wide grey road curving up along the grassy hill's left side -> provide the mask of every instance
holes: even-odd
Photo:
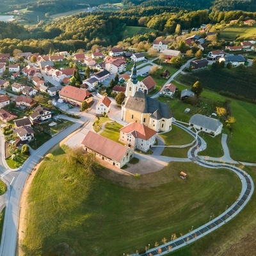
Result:
[[[24,165],[20,169],[20,172],[16,172],[19,175],[12,181],[12,184],[9,185],[8,193],[6,195],[6,212],[2,236],[3,239],[1,241],[0,247],[1,256],[15,255],[20,195],[22,193],[22,189],[24,188],[24,184],[29,173],[31,172],[35,164],[40,161],[42,156],[44,156],[50,148],[54,147],[54,145],[59,143],[61,140],[67,138],[69,134],[76,131],[76,129],[83,125],[83,122],[81,120],[73,120],[73,122],[75,122],[75,124],[54,136],[51,140],[47,141],[47,143],[42,145],[37,150],[33,150],[28,161],[26,161],[26,163],[24,163]],[[13,172],[11,174],[13,175]]]

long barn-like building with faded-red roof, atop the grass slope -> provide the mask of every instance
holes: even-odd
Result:
[[[134,156],[134,151],[131,148],[109,140],[92,131],[86,134],[82,145],[86,152],[95,154],[102,161],[118,168],[122,168]]]

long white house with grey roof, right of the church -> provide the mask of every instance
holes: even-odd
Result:
[[[200,114],[191,116],[189,125],[214,137],[221,133],[223,127],[219,120]]]

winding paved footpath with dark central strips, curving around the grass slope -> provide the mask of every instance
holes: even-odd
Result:
[[[182,248],[183,246],[186,246],[187,244],[194,243],[196,240],[213,232],[217,228],[220,228],[225,223],[232,220],[234,216],[239,214],[243,207],[249,202],[254,191],[253,180],[248,173],[230,164],[212,163],[204,161],[203,159],[197,156],[197,152],[205,149],[205,141],[202,138],[200,138],[200,136],[198,136],[197,133],[189,130],[184,125],[178,124],[177,122],[174,125],[177,125],[181,129],[184,129],[185,131],[189,132],[189,134],[191,134],[196,139],[196,145],[190,148],[188,152],[188,157],[191,161],[208,168],[227,168],[231,170],[232,172],[236,173],[239,179],[241,179],[242,189],[239,198],[237,198],[236,202],[234,202],[234,204],[227,208],[225,212],[220,214],[220,216],[217,216],[216,218],[209,221],[205,225],[202,225],[201,227],[192,230],[191,232],[182,237],[179,237],[166,244],[148,250],[146,253],[142,254],[142,256],[166,255],[167,253],[170,253],[173,250],[177,250],[179,248]]]

